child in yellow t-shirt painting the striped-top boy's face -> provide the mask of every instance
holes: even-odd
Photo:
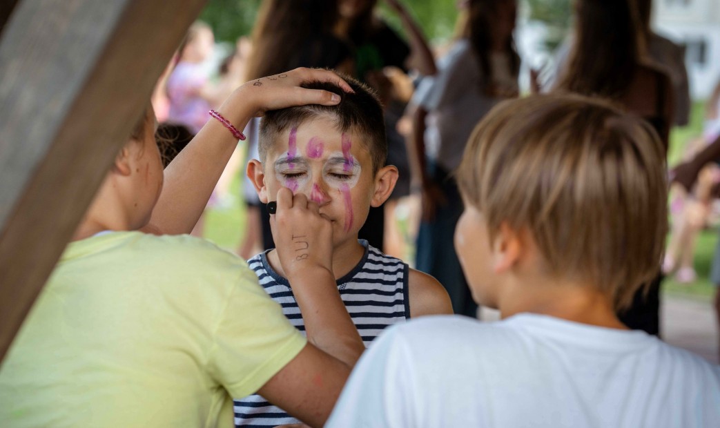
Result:
[[[305,79],[349,90],[329,71],[283,76],[241,86],[220,112],[242,128],[267,108],[338,102]],[[211,120],[163,174],[154,121],[148,107],[6,355],[3,426],[231,426],[229,395],[258,390],[322,425],[364,350],[330,274],[330,223],[304,195],[278,192],[276,254],[307,344],[238,257],[138,231],[189,232],[237,145]]]

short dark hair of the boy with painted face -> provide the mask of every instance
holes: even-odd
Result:
[[[302,84],[307,89],[323,89],[341,97],[336,105],[309,104],[271,110],[265,113],[260,125],[258,151],[264,163],[269,148],[276,142],[279,134],[297,128],[308,120],[317,117],[330,117],[336,128],[343,133],[354,132],[362,136],[365,148],[372,158],[372,172],[384,166],[387,160],[387,139],[382,115],[382,105],[375,92],[365,84],[348,76],[341,76],[355,91],[346,93],[336,84],[326,81],[310,81]]]

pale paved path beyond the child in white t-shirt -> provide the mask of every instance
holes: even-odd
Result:
[[[498,311],[488,308],[480,311],[484,321],[498,319]],[[710,302],[663,295],[661,317],[665,342],[695,352],[715,364],[720,363],[718,327]]]

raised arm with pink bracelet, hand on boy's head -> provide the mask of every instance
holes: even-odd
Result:
[[[346,91],[352,90],[335,73],[325,70],[297,68],[279,76],[285,77],[272,76],[243,84],[217,110],[241,130],[251,117],[260,116],[266,110],[302,104],[332,105],[339,101],[333,100],[330,92],[300,88],[302,81],[333,81]],[[165,169],[163,190],[143,231],[190,233],[237,143],[220,122],[208,120]]]

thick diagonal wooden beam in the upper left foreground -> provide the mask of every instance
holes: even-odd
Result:
[[[204,0],[21,0],[0,39],[0,361]]]

